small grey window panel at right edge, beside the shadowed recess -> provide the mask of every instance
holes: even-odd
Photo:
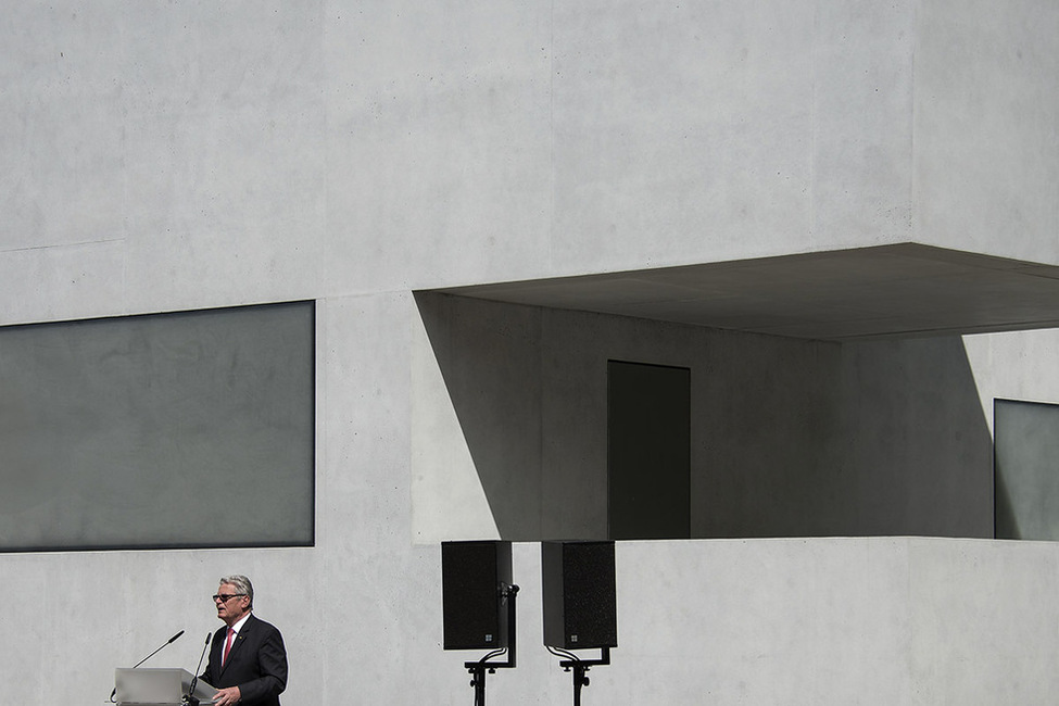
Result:
[[[1059,540],[1059,405],[995,400],[996,538]]]

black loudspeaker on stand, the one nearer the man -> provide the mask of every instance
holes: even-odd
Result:
[[[445,650],[507,647],[505,587],[512,583],[512,543],[441,543]]]

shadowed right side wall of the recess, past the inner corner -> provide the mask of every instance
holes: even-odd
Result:
[[[858,535],[993,537],[993,440],[959,337],[847,343],[845,496]]]

